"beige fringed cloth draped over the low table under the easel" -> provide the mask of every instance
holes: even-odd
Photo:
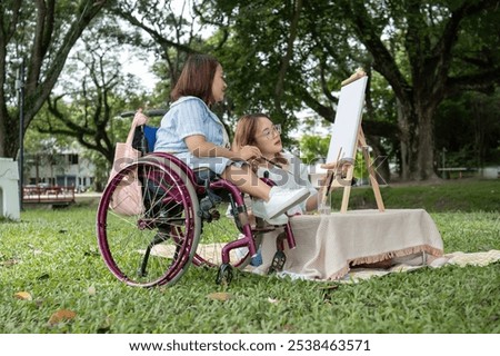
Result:
[[[288,249],[283,270],[309,279],[339,279],[349,265],[427,253],[440,257],[441,235],[423,209],[351,210],[328,216],[303,215],[290,219],[297,247]],[[276,235],[262,240],[262,265],[267,273],[276,251]]]

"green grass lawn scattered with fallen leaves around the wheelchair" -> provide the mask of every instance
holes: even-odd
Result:
[[[353,189],[352,206],[371,207],[370,196]],[[446,253],[500,249],[499,181],[390,187],[382,197],[387,208],[430,211]],[[219,286],[216,270],[192,267],[172,287],[132,288],[104,266],[94,217],[94,206],[76,206],[0,221],[0,333],[500,333],[498,263],[356,285],[236,273]],[[208,297],[217,291],[230,298]],[[74,318],[49,323],[61,309]]]

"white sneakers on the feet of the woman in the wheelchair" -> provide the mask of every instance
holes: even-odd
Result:
[[[253,202],[252,211],[256,216],[263,218],[266,221],[273,225],[287,224],[288,217],[284,212],[291,207],[302,202],[309,197],[309,189],[283,189],[280,187],[272,187],[269,192],[269,201],[257,200]],[[284,221],[284,218],[287,221]],[[279,220],[282,224],[274,224]],[[274,220],[274,221],[272,221]]]

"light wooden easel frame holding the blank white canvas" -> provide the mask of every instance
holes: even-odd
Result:
[[[362,77],[364,77],[366,73],[361,69],[358,69],[358,71],[352,75],[349,79],[346,79],[342,81],[342,87],[347,86],[354,80],[358,80]],[[356,131],[354,131],[356,132]],[[370,152],[368,150],[367,140],[364,139],[364,134],[361,128],[361,125],[358,129],[358,137],[354,145],[354,152],[358,150],[358,148],[361,148],[364,162],[368,167],[368,174],[370,177],[371,188],[373,190],[373,195],[377,201],[377,207],[379,211],[384,211],[386,208],[383,206],[382,195],[380,194],[380,187],[379,182],[377,181],[376,171],[372,166],[372,161],[370,158]],[[336,162],[327,162],[323,165],[323,168],[328,169],[327,178],[326,178],[326,188],[322,189],[322,196],[321,201],[324,205],[327,202],[328,195],[332,192],[337,188],[343,188],[343,196],[342,196],[342,205],[340,208],[340,212],[347,212],[348,205],[349,205],[349,197],[351,194],[351,184],[352,184],[352,177],[354,172],[354,162],[353,161],[342,161],[340,158],[341,150],[339,151],[338,158]],[[344,168],[347,169],[344,170]]]

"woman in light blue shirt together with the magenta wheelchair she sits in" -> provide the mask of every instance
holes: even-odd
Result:
[[[149,139],[153,152],[141,145],[144,156],[122,168],[104,189],[98,241],[108,268],[120,280],[144,287],[170,285],[193,263],[219,267],[217,283],[229,283],[232,267],[244,267],[256,255],[261,234],[282,229],[281,240],[294,247],[286,211],[310,191],[260,179],[247,164],[261,156],[257,147],[228,148],[226,129],[210,110],[224,90],[220,63],[210,56],[191,56],[172,90],[170,110]],[[144,117],[138,113],[134,125],[141,121]],[[139,134],[147,131],[154,132],[141,128]],[[116,202],[121,189],[134,186],[140,209],[133,215],[117,212],[113,197]],[[244,194],[252,197],[253,215],[267,224],[249,224]],[[228,205],[233,220],[219,214]],[[244,256],[234,253],[242,247],[248,249]]]

